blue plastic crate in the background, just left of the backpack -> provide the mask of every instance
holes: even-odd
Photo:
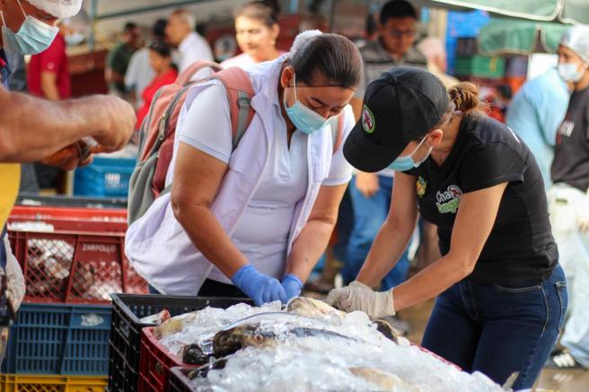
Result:
[[[92,164],[75,170],[74,194],[127,197],[136,160],[95,157]]]

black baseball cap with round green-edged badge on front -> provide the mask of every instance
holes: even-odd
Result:
[[[344,156],[358,170],[385,169],[409,142],[442,120],[449,104],[448,92],[435,75],[410,66],[392,68],[368,85]]]

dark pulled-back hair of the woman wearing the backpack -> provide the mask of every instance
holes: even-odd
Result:
[[[351,40],[338,34],[307,39],[290,58],[296,79],[308,85],[317,79],[331,86],[356,89],[360,83],[362,57]]]

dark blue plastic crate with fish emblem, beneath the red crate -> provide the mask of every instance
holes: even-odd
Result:
[[[10,328],[2,371],[67,376],[106,375],[110,305],[23,303]]]

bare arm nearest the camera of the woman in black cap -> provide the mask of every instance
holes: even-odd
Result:
[[[394,289],[394,309],[409,308],[444,292],[468,276],[495,224],[507,183],[470,192],[461,197],[452,231],[450,251]]]

